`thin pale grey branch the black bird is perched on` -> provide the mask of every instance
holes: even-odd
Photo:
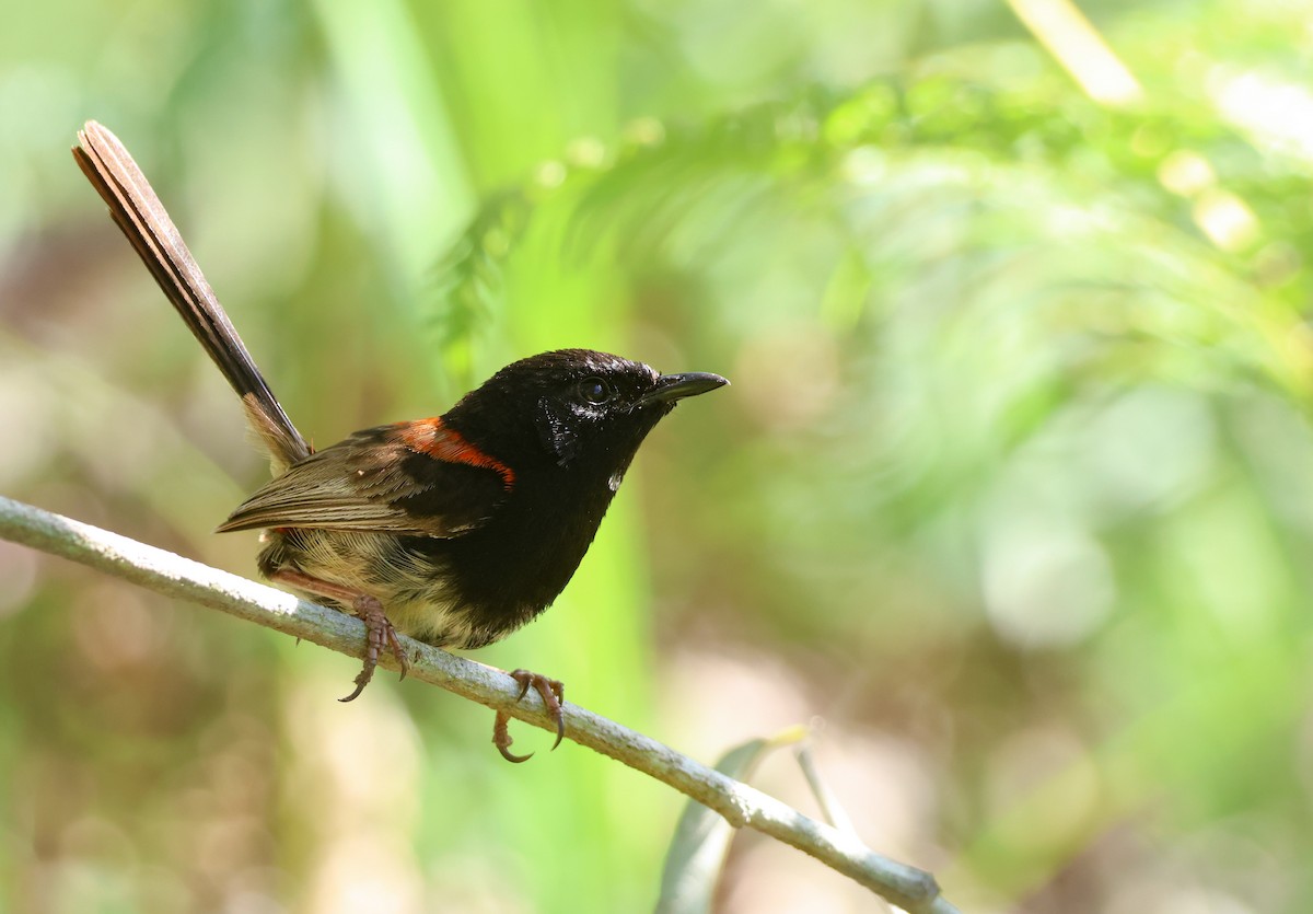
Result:
[[[140,584],[165,596],[257,622],[349,657],[361,657],[364,624],[341,612],[298,600],[290,594],[147,546],[135,540],[0,498],[0,538],[62,555]],[[440,686],[527,724],[553,730],[541,700],[517,700],[519,684],[500,670],[454,657],[403,638],[415,659],[410,678]],[[385,655],[381,666],[397,667]],[[855,837],[807,818],[755,788],[680,755],[668,746],[599,717],[575,704],[565,705],[566,735],[580,746],[628,764],[723,816],[735,827],[750,827],[810,854],[910,914],[953,914],[935,879],[867,848]]]

